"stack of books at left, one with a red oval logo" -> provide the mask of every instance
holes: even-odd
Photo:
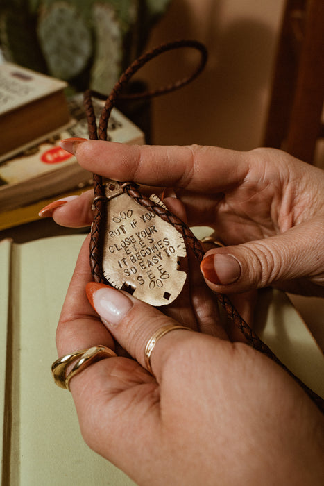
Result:
[[[67,99],[65,87],[29,69],[0,65],[0,230],[33,221],[47,203],[92,184],[92,174],[58,144],[88,137],[83,95]],[[103,104],[94,100],[98,118]],[[144,133],[114,108],[108,140],[143,144]]]

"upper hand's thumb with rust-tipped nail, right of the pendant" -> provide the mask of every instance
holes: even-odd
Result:
[[[312,221],[282,235],[210,250],[201,271],[207,285],[221,293],[245,292],[302,277],[324,285],[323,244],[323,221]]]

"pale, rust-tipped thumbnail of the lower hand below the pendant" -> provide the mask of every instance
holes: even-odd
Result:
[[[133,307],[133,302],[126,295],[103,283],[90,282],[85,291],[94,310],[112,327],[117,326]]]

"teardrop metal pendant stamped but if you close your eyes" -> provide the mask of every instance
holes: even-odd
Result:
[[[105,185],[108,199],[102,268],[105,279],[151,305],[167,305],[186,280],[180,258],[187,254],[182,235],[167,221],[128,196],[119,183]],[[164,206],[157,196],[150,198]]]

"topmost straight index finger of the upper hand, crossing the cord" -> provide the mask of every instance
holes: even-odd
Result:
[[[248,172],[243,152],[219,147],[128,145],[103,140],[60,141],[84,169],[113,179],[214,193],[236,185]],[[217,171],[210,172],[210,161]]]

